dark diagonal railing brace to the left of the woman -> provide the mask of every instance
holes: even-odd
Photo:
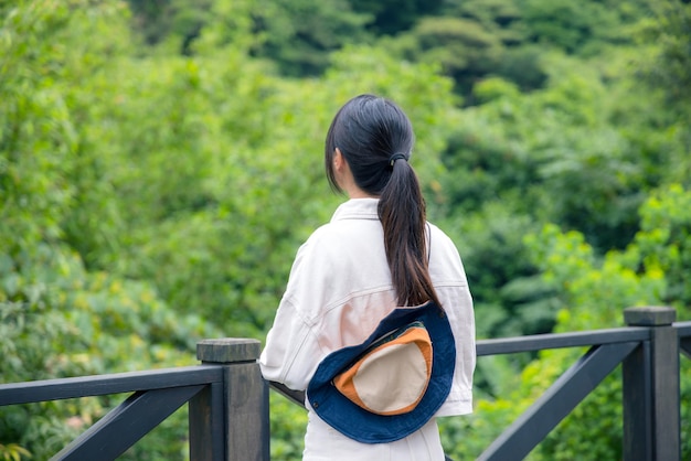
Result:
[[[136,392],[51,461],[115,460],[204,387]]]

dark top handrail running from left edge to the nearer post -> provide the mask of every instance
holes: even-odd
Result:
[[[110,375],[0,384],[0,406],[194,386],[222,380],[223,372],[220,367],[192,365]]]

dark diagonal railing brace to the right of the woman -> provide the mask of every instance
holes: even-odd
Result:
[[[593,346],[499,436],[478,460],[525,458],[640,343]]]

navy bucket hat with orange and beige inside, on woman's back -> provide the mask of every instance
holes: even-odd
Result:
[[[456,364],[446,312],[435,304],[397,308],[361,344],[329,354],[307,387],[312,409],[363,443],[400,440],[442,407]]]

